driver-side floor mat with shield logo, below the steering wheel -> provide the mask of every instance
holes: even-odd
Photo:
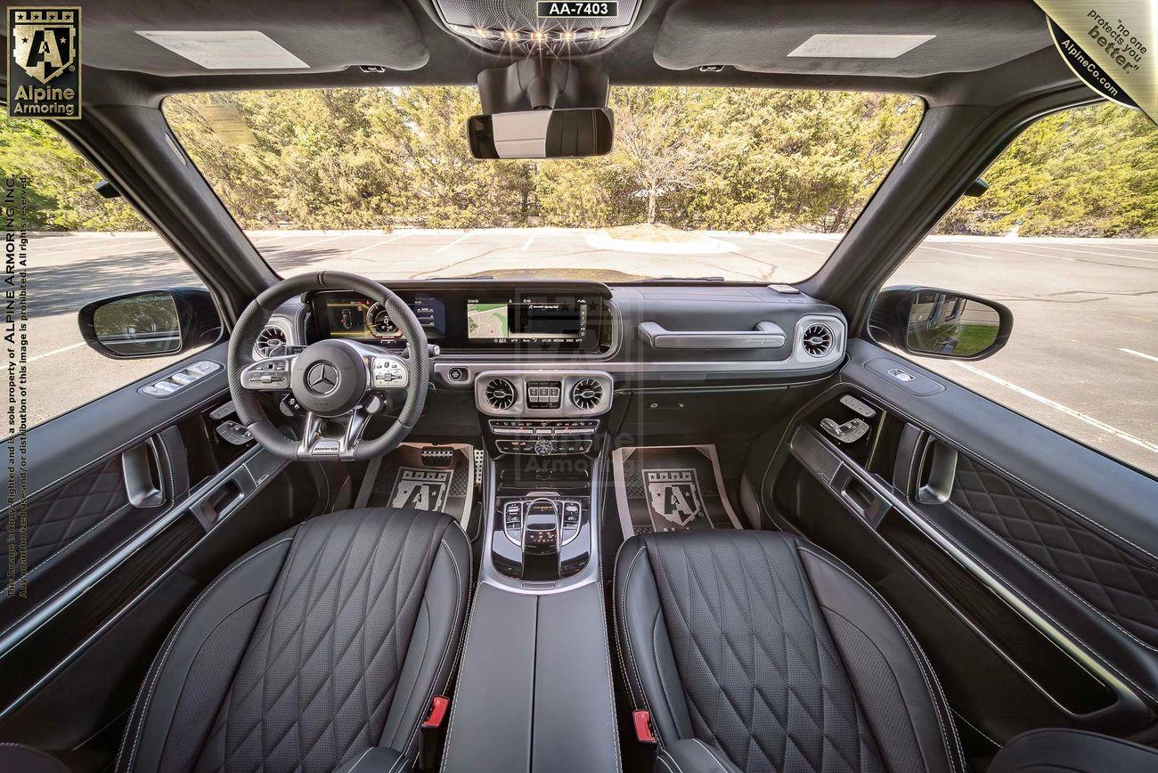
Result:
[[[466,443],[402,443],[382,459],[367,505],[447,513],[466,529],[474,468],[475,449]]]

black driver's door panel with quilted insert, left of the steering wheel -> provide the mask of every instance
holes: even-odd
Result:
[[[320,506],[301,465],[214,432],[225,356],[214,346],[29,430],[28,569],[0,597],[0,739],[68,750],[115,727],[197,589]],[[168,397],[139,391],[193,361],[220,367]]]

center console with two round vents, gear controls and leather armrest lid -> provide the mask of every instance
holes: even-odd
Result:
[[[622,770],[599,518],[611,377],[491,370],[482,582],[445,770]]]

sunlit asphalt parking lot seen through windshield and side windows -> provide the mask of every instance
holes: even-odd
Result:
[[[283,275],[321,267],[378,279],[488,274],[725,277],[796,281],[836,237],[713,234],[698,253],[623,251],[556,230],[256,234]],[[660,245],[655,250],[681,249]],[[577,271],[578,270],[578,271]],[[1010,305],[1013,336],[975,363],[924,365],[1106,454],[1158,474],[1158,240],[935,237],[891,284],[960,289]],[[167,360],[113,361],[76,329],[88,301],[132,289],[197,285],[159,237],[46,236],[29,248],[29,424],[145,376]]]

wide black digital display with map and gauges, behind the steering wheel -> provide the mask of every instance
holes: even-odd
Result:
[[[442,351],[595,354],[610,344],[608,297],[592,285],[394,289]],[[405,343],[388,310],[362,295],[321,290],[308,302],[318,338]]]

